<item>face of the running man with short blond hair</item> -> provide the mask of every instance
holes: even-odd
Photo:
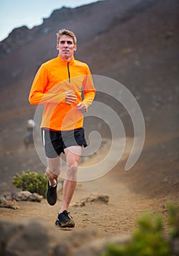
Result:
[[[73,43],[73,38],[63,34],[60,37],[59,43],[57,45],[57,50],[59,55],[64,60],[70,60],[73,58],[74,51],[76,50],[76,45]]]

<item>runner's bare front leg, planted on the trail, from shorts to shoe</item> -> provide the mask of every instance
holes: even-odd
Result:
[[[77,168],[81,157],[81,146],[65,148],[67,174],[63,184],[63,200],[60,213],[68,209],[77,184]]]

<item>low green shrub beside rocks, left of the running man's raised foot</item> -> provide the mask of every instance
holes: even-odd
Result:
[[[46,197],[47,176],[44,173],[30,172],[29,170],[24,171],[22,175],[17,173],[12,178],[12,184],[23,191],[28,190]]]

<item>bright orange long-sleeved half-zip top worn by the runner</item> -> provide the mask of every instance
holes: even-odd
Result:
[[[71,90],[77,99],[75,103],[67,105],[65,91]],[[88,108],[95,92],[87,64],[74,58],[65,61],[57,56],[39,68],[31,86],[29,102],[44,105],[41,127],[65,131],[83,127],[83,114],[75,107],[82,102]]]

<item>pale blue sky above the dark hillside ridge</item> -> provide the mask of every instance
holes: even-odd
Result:
[[[40,25],[53,10],[61,7],[78,7],[98,0],[0,0],[0,41],[20,26]],[[100,0],[101,1],[101,0]]]

